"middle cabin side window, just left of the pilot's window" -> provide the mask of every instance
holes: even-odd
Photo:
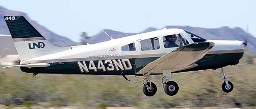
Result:
[[[159,39],[157,37],[141,40],[141,50],[159,49]]]

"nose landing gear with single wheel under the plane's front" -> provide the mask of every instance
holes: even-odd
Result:
[[[223,77],[221,77],[221,73],[223,74]],[[231,92],[234,88],[234,85],[232,82],[228,81],[223,68],[221,68],[219,77],[224,81],[221,85],[222,90],[226,93]]]

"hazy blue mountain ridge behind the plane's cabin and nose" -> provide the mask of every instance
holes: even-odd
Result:
[[[228,26],[223,26],[220,28],[201,28],[201,27],[190,27],[190,26],[166,26],[164,28],[180,28],[192,33],[195,33],[203,38],[212,39],[212,40],[241,40],[243,41],[245,36],[248,37],[248,43],[251,43],[255,47],[249,51],[249,53],[256,53],[256,38],[250,34],[247,34],[243,29],[239,27],[230,28]],[[140,33],[150,32],[158,30],[156,28],[150,27],[143,30]],[[108,33],[113,38],[120,38],[125,36],[130,36],[134,34],[140,33],[123,33],[118,31],[113,31],[106,29],[106,33]],[[102,41],[110,40],[110,38],[104,33],[100,32],[91,37],[89,43],[99,43]]]

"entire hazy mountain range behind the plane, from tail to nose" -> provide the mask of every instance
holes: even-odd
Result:
[[[62,37],[60,35],[57,35],[51,32],[50,30],[48,30],[47,28],[39,25],[36,21],[29,19],[29,17],[25,13],[8,10],[1,6],[0,6],[0,34],[10,34],[3,16],[12,16],[12,15],[26,17],[26,19],[35,28],[37,28],[39,32],[43,36],[45,36],[46,39],[48,39],[54,45],[70,46],[70,45],[78,44],[76,42],[73,42],[67,37]],[[216,40],[244,40],[244,37],[246,36],[246,32],[239,27],[229,28],[227,26],[224,26],[220,28],[201,28],[201,27],[190,27],[190,26],[166,26],[164,28],[180,28],[180,29],[184,29],[189,32],[195,33],[206,39],[216,39]],[[150,27],[139,33],[145,33],[145,32],[150,32],[154,30],[158,30],[158,29]],[[110,29],[105,29],[104,31],[114,39],[139,34],[139,33],[124,33],[124,32],[114,31]],[[89,43],[91,44],[99,43],[99,42],[107,41],[110,39],[111,38],[108,35],[106,35],[104,32],[99,32],[98,34],[91,36]],[[248,42],[256,46],[256,38],[250,34],[248,34]],[[256,53],[256,47],[250,50],[249,52]],[[13,41],[10,36],[4,37],[0,35],[0,56],[4,56],[7,54],[17,54],[17,51],[14,47]]]

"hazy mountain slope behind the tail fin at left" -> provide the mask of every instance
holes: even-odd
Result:
[[[50,30],[48,30],[47,28],[39,25],[36,21],[29,19],[29,17],[25,13],[22,13],[19,11],[8,10],[1,6],[0,6],[0,34],[10,34],[3,16],[13,16],[13,15],[24,16],[46,39],[48,39],[54,45],[70,46],[70,45],[76,44],[69,38],[57,35],[57,34],[51,32]],[[2,40],[2,38],[1,38],[1,40]]]

